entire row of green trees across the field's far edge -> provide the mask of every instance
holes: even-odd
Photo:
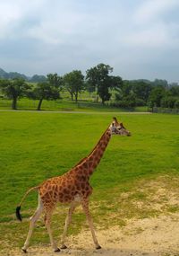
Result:
[[[168,84],[166,80],[123,80],[121,76],[111,75],[113,67],[98,64],[82,75],[81,70],[73,70],[60,76],[48,74],[44,82],[28,84],[23,78],[0,79],[0,92],[4,97],[12,99],[12,109],[17,109],[17,100],[28,97],[38,100],[37,110],[41,109],[43,100],[56,100],[66,90],[72,101],[78,102],[79,93],[86,90],[96,92],[102,104],[122,108],[134,108],[148,105],[154,107],[179,108],[179,85]]]

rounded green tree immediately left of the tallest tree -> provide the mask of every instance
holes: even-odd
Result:
[[[73,95],[75,102],[78,102],[78,95],[84,86],[84,75],[81,74],[81,70],[73,70],[72,72],[65,74],[63,77],[63,83],[66,90],[71,94],[73,101]]]

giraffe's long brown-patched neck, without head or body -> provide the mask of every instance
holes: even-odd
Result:
[[[80,167],[80,169],[85,169],[87,175],[90,176],[94,172],[95,168],[98,166],[98,163],[100,162],[107,148],[110,138],[111,131],[109,128],[107,128],[105,133],[99,139],[98,144],[93,148],[90,154],[87,157],[83,158],[81,162],[77,163],[75,167],[77,167],[77,169],[78,167]]]

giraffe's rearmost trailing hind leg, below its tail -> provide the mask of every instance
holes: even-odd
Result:
[[[21,250],[23,252],[27,252],[27,249],[30,245],[30,237],[31,237],[31,234],[33,232],[33,229],[34,229],[34,226],[39,218],[39,216],[41,215],[42,211],[43,211],[43,203],[38,195],[38,208],[37,210],[35,211],[34,215],[30,217],[30,229],[29,229],[29,233],[28,233],[28,236],[26,238],[26,241],[23,245],[23,247],[21,248]]]

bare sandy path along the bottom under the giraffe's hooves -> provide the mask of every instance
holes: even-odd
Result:
[[[66,250],[52,252],[50,246],[29,248],[30,256],[178,256],[179,255],[179,214],[130,220],[122,228],[97,230],[101,250],[95,250],[90,231],[85,230],[68,238]],[[13,249],[8,256],[23,255],[20,249]]]

